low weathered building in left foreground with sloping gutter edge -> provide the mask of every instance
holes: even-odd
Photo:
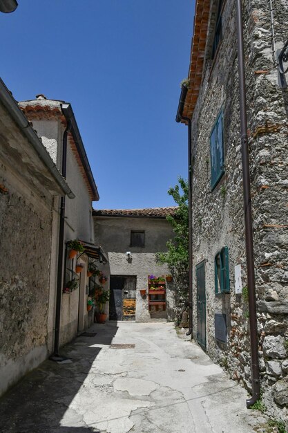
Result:
[[[73,192],[0,80],[0,395],[49,353],[52,213]]]

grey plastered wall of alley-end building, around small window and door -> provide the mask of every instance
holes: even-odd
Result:
[[[169,273],[166,265],[156,264],[155,255],[156,252],[166,251],[166,242],[174,236],[170,223],[166,219],[115,216],[94,216],[94,221],[95,242],[106,250],[109,259],[104,272],[108,275],[137,276],[135,320],[155,320],[155,315],[151,318],[148,312],[148,296],[142,297],[140,289],[146,288],[148,293],[148,275],[160,276]],[[145,231],[144,248],[130,246],[131,230]],[[127,259],[127,251],[131,251],[131,260]],[[167,283],[166,288],[166,313],[158,316],[174,320],[175,288],[173,283]]]

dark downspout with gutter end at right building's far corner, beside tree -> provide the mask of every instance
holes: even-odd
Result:
[[[186,335],[191,335],[193,331],[193,264],[192,264],[192,192],[193,192],[193,176],[191,163],[191,120],[182,116],[184,103],[188,87],[182,86],[180,101],[178,104],[176,122],[184,120],[188,124],[188,221],[189,221],[189,331]]]

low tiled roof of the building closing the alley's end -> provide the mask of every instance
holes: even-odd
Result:
[[[166,218],[175,215],[177,206],[170,208],[143,208],[143,209],[102,209],[93,210],[94,216],[142,216],[150,218]]]

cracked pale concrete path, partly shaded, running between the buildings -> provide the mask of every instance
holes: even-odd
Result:
[[[246,391],[173,324],[109,322],[89,332],[97,334],[62,350],[72,362],[44,362],[0,400],[2,433],[258,430]]]

